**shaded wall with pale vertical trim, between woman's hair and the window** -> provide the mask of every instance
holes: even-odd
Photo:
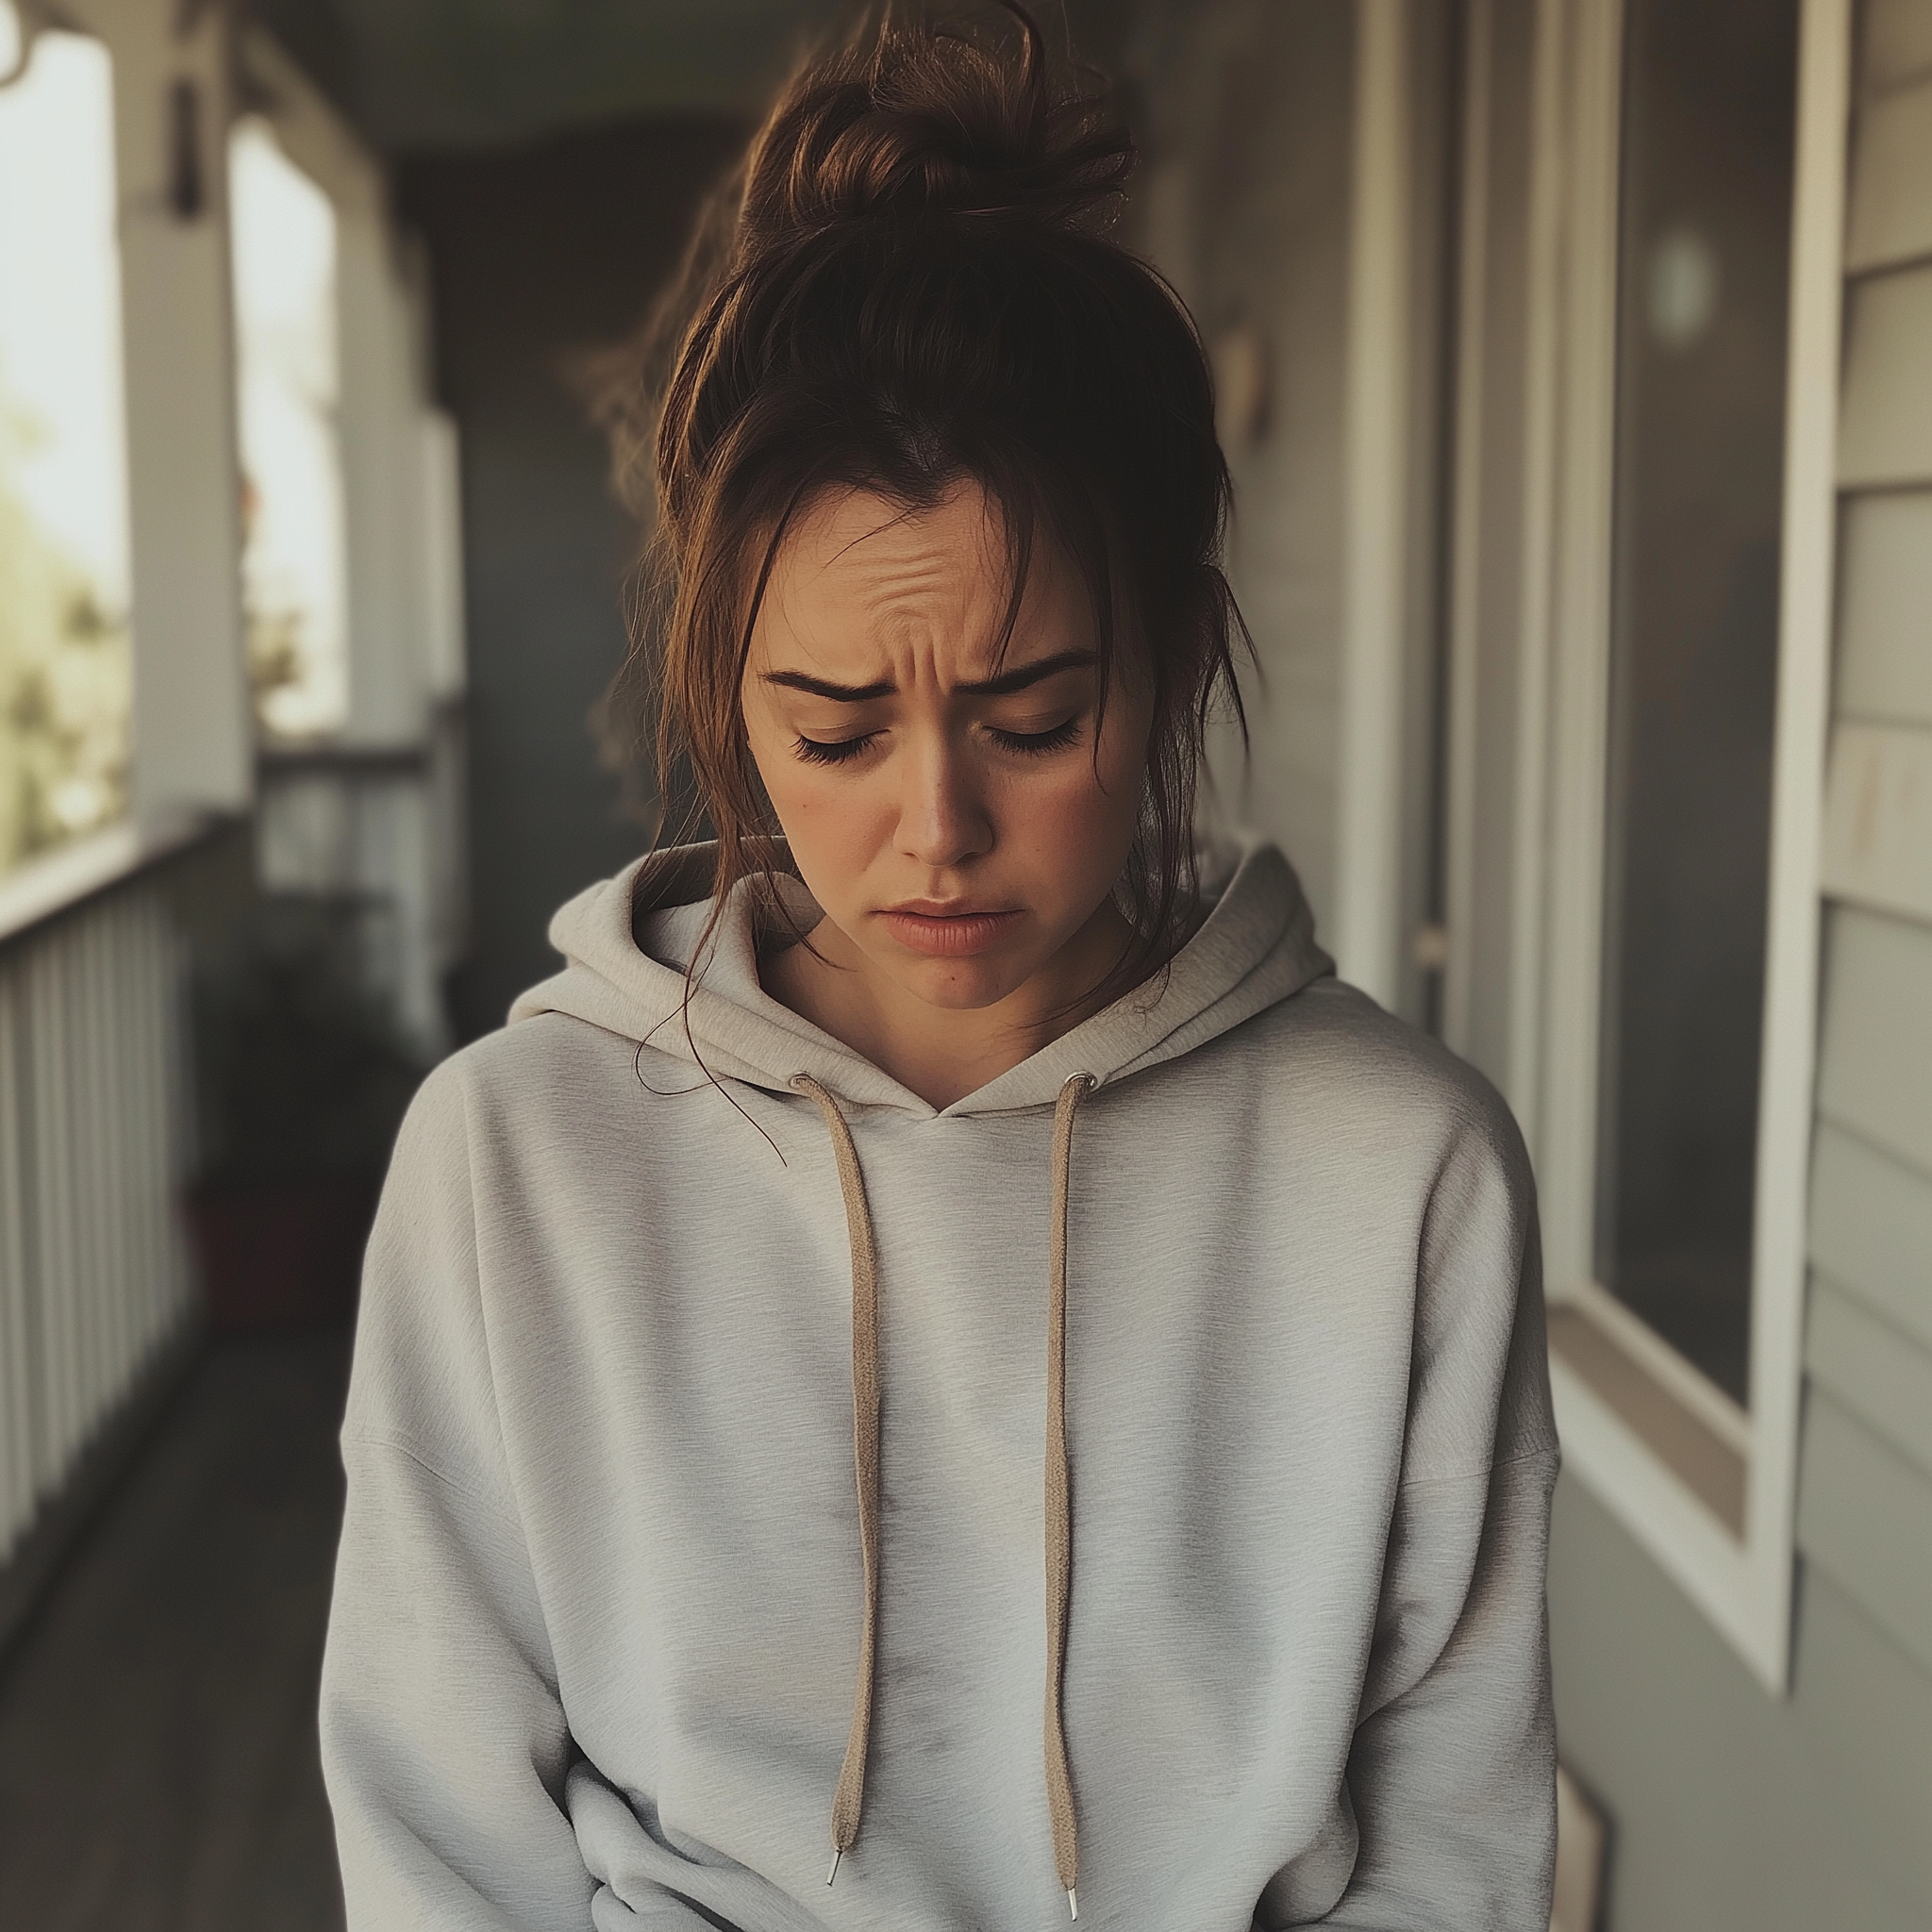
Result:
[[[1434,1014],[1439,327],[1453,10],[1150,4],[1136,242],[1215,363],[1258,665],[1213,813],[1294,860],[1341,972]],[[1391,568],[1391,556],[1395,564]]]

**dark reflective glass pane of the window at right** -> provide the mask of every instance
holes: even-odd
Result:
[[[1596,1279],[1739,1405],[1797,0],[1627,0]]]

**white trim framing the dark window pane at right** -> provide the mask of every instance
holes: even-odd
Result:
[[[1774,1694],[1791,1648],[1849,66],[1851,0],[1803,0],[1748,1412],[1662,1343],[1611,1333],[1663,1395],[1743,1451],[1743,1536],[1551,1356],[1569,1466]],[[1517,798],[1546,810],[1517,813],[1509,1086],[1544,1196],[1549,1298],[1604,1331],[1615,1323],[1592,1279],[1592,1231],[1621,85],[1621,0],[1542,0]]]

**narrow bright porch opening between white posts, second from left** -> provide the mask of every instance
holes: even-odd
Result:
[[[348,715],[336,213],[259,120],[230,137],[228,193],[249,682],[269,736],[313,738]]]

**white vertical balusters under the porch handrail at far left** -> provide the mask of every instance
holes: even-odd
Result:
[[[108,871],[0,923],[0,1563],[193,1314],[184,945],[145,854]]]

